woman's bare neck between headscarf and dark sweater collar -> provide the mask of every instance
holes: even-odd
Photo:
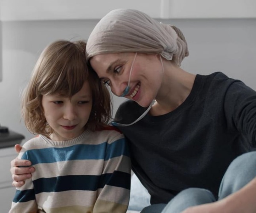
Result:
[[[163,82],[150,111],[153,116],[167,114],[180,106],[189,96],[195,82],[195,74],[173,65],[168,68],[164,69]]]

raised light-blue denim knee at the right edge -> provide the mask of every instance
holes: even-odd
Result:
[[[256,177],[256,151],[238,156],[230,166],[221,181],[218,199],[240,190]]]

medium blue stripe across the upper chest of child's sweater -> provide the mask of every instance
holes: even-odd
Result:
[[[106,153],[107,152],[107,153]],[[125,139],[119,139],[108,144],[73,145],[64,148],[43,148],[26,151],[21,159],[29,159],[32,165],[38,163],[54,163],[67,160],[111,159],[116,156],[129,156]]]

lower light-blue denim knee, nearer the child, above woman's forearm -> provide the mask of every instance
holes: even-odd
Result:
[[[162,213],[180,213],[188,207],[215,201],[215,197],[209,190],[201,188],[188,188],[178,193],[166,205]]]

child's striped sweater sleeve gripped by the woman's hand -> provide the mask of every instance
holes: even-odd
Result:
[[[26,151],[24,152],[24,148],[20,151],[18,158],[29,160],[26,155]],[[34,186],[32,179],[29,178],[25,180],[25,184],[22,187],[16,188],[16,193],[12,201],[12,207],[9,210],[9,213],[36,213],[37,210],[38,206],[35,202]]]

